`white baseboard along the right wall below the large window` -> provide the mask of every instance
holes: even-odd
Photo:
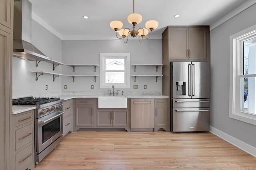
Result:
[[[210,126],[210,132],[213,133],[214,135],[224,139],[225,141],[227,141],[228,143],[231,143],[232,145],[238,147],[239,149],[244,150],[245,152],[247,152],[248,154],[256,157],[256,148],[252,147],[251,145],[248,145],[247,143],[244,143],[214,127]]]

